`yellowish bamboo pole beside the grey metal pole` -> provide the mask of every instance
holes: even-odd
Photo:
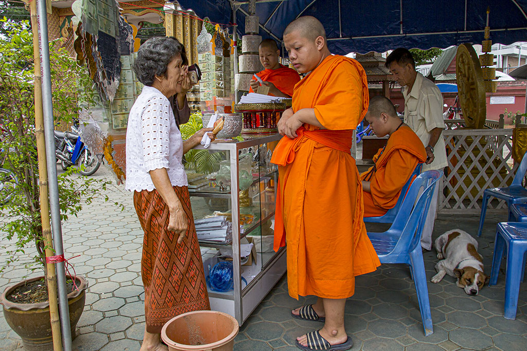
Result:
[[[31,27],[33,29],[33,57],[35,69],[35,134],[38,153],[38,179],[40,181],[40,208],[42,220],[42,236],[44,237],[45,255],[53,256],[53,238],[50,225],[50,204],[47,197],[47,162],[46,144],[44,141],[44,114],[42,112],[42,76],[40,65],[40,47],[38,45],[38,26],[36,18],[36,2],[30,0]],[[43,43],[47,45],[47,43]],[[51,333],[53,335],[53,350],[62,351],[61,323],[58,315],[57,276],[55,264],[46,263],[46,284],[50,302]]]

